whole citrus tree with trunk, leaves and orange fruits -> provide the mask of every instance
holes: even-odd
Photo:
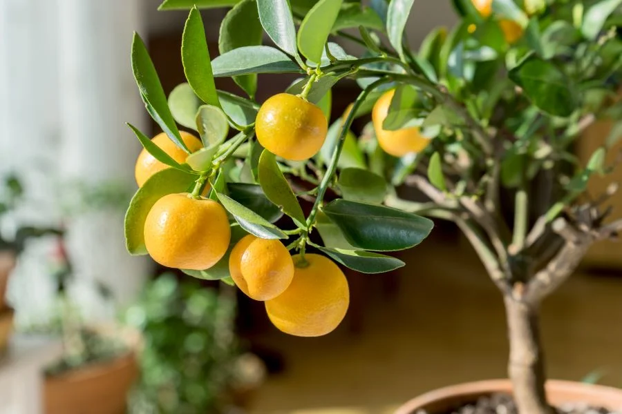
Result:
[[[126,216],[130,253],[236,284],[265,301],[281,331],[317,336],[348,308],[335,262],[395,270],[404,263],[377,252],[422,242],[433,227],[423,216],[454,221],[505,299],[520,412],[551,413],[540,303],[587,248],[622,228],[605,224],[601,208],[614,186],[586,192],[612,169],[605,155],[621,127],[587,165],[572,152],[587,126],[622,113],[621,3],[454,0],[458,24],[415,50],[404,37],[414,0],[164,1],[190,10],[187,83],[167,98],[135,35],[135,79],[163,132],[150,140],[130,126],[144,146]],[[212,59],[198,8],[225,6]],[[331,36],[362,51],[349,55]],[[268,72],[300,79],[256,102]],[[232,77],[239,93],[217,90],[216,77]],[[329,125],[331,88],[344,79],[361,92]],[[352,121],[369,114],[356,137]],[[428,200],[400,197],[404,187]],[[306,215],[300,199],[312,201]]]

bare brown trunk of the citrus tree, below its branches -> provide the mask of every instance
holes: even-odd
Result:
[[[552,414],[545,394],[544,355],[537,306],[505,297],[509,377],[520,414]]]

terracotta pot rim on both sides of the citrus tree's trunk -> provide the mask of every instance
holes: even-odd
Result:
[[[581,382],[549,380],[546,385],[549,402],[560,406],[568,402],[622,410],[622,390]],[[445,414],[452,408],[475,402],[479,397],[494,393],[510,393],[509,380],[467,382],[431,391],[401,406],[395,414],[415,414],[426,410],[429,414]]]

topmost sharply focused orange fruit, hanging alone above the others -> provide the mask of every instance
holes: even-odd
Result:
[[[255,120],[257,139],[263,148],[291,161],[317,154],[328,132],[328,121],[313,103],[279,93],[263,103]]]

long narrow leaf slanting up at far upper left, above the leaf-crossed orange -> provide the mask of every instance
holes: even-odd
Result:
[[[158,73],[153,66],[151,57],[138,33],[134,33],[132,41],[132,72],[140,90],[140,97],[147,112],[179,148],[190,152],[179,135],[175,119],[171,115],[167,97],[164,95]]]

